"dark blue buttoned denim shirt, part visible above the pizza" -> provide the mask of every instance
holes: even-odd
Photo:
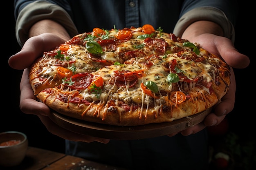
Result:
[[[39,0],[40,1],[40,0]],[[41,0],[42,1],[42,0]],[[172,32],[175,24],[182,15],[198,7],[213,7],[225,13],[231,23],[236,21],[237,5],[234,0],[44,0],[57,4],[63,8],[74,22],[78,33],[91,31],[94,27],[103,29],[117,29],[130,26],[143,26],[151,24],[155,28],[161,26],[165,32]],[[20,11],[24,9],[31,0],[15,0],[14,16],[17,19]],[[27,10],[40,8],[34,5]],[[37,9],[36,9],[37,10]],[[49,13],[49,11],[47,11]],[[36,17],[28,16],[29,19]],[[43,13],[40,13],[42,17]],[[49,16],[48,16],[49,17]],[[51,16],[52,17],[52,16]],[[62,22],[58,15],[54,20]],[[218,18],[218,17],[215,17]],[[23,22],[24,22],[23,21]],[[33,20],[35,22],[35,20]],[[65,21],[65,20],[64,20]],[[29,23],[26,23],[29,24]]]

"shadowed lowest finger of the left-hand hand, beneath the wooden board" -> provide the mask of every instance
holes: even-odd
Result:
[[[49,132],[59,137],[62,137],[63,139],[67,139],[70,141],[82,141],[82,142],[98,141],[103,144],[107,144],[110,141],[110,139],[103,139],[98,137],[81,135],[81,134],[66,130],[64,128],[61,128],[60,126],[55,124],[48,116],[38,115],[38,117],[40,118],[40,120],[42,121],[42,123],[45,125],[45,127]]]

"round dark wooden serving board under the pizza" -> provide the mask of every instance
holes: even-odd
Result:
[[[211,108],[195,115],[157,124],[146,124],[140,126],[113,126],[98,124],[72,117],[67,117],[55,111],[49,116],[58,126],[82,135],[101,137],[105,139],[132,140],[159,137],[180,132],[188,127],[193,127],[204,120],[211,112]]]

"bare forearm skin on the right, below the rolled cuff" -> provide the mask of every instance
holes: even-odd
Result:
[[[223,30],[220,25],[211,21],[196,21],[189,25],[182,34],[183,39],[190,40],[192,37],[203,33],[212,33],[218,36],[223,36]]]

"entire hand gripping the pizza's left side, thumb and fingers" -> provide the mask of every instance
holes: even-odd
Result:
[[[20,110],[26,114],[37,115],[49,132],[64,139],[83,142],[98,141],[107,144],[110,141],[109,139],[81,135],[71,132],[65,128],[61,128],[55,124],[49,118],[49,115],[51,114],[49,107],[36,100],[34,91],[32,90],[31,84],[29,83],[28,67],[31,66],[34,60],[42,56],[44,51],[52,50],[59,44],[62,44],[66,41],[67,40],[59,38],[55,34],[43,33],[29,38],[25,42],[21,51],[9,58],[9,65],[12,68],[19,70],[24,69],[20,81]]]

